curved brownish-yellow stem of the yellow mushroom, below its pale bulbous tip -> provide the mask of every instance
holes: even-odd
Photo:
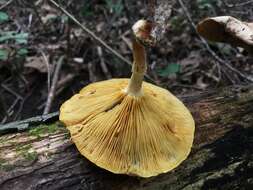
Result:
[[[142,95],[142,81],[147,70],[146,52],[142,44],[133,40],[132,76],[127,87],[127,93],[133,96]]]

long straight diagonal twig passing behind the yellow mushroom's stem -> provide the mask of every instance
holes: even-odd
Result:
[[[103,46],[105,49],[107,49],[109,52],[111,52],[113,55],[118,57],[121,61],[127,63],[128,65],[132,65],[132,63],[124,58],[120,53],[112,49],[108,44],[106,44],[101,38],[96,36],[90,29],[86,28],[84,25],[82,25],[73,15],[71,15],[67,10],[62,8],[58,3],[56,3],[54,0],[49,0],[54,6],[56,6],[58,9],[60,9],[65,15],[67,15],[74,23],[76,23],[84,32],[86,32],[89,36],[91,36],[94,40],[96,40],[98,43],[100,43],[101,46]],[[154,79],[152,79],[149,75],[145,74],[145,77],[150,80],[153,83],[156,83]]]

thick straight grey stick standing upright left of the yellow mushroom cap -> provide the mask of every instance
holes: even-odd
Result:
[[[52,106],[52,103],[53,103],[53,100],[54,100],[56,84],[57,84],[57,81],[58,81],[61,66],[63,64],[63,59],[64,59],[64,56],[61,56],[59,58],[58,62],[57,62],[57,65],[56,65],[56,68],[55,68],[55,71],[54,71],[52,86],[51,86],[50,91],[48,93],[47,102],[46,102],[46,106],[45,106],[45,109],[43,111],[43,114],[48,114],[50,109],[51,109],[51,106]]]

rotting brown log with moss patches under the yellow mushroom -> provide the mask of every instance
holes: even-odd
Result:
[[[0,136],[0,189],[253,189],[253,86],[181,99],[195,118],[195,140],[190,156],[169,173],[143,179],[96,167],[78,153],[53,114],[53,119],[11,124],[11,131],[0,126],[5,127]],[[15,132],[23,129],[20,123],[26,124],[25,131]]]

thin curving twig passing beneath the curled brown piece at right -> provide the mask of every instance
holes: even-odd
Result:
[[[192,20],[192,18],[191,18],[191,15],[190,15],[190,13],[189,13],[189,11],[188,11],[188,9],[186,8],[186,6],[184,5],[184,3],[183,3],[182,0],[178,0],[178,2],[179,2],[179,4],[180,4],[180,6],[182,7],[182,9],[183,9],[183,11],[184,11],[184,13],[185,13],[185,15],[186,15],[188,21],[190,22],[190,24],[191,24],[192,27],[194,28],[195,32],[198,34],[197,29],[196,29],[196,25],[194,24],[194,22],[193,22],[193,20]],[[198,36],[199,36],[201,42],[203,43],[203,45],[205,46],[205,48],[207,49],[207,51],[208,51],[208,52],[214,57],[214,59],[218,62],[218,63],[217,63],[217,64],[218,64],[218,65],[217,65],[218,68],[220,67],[220,65],[219,65],[220,63],[221,63],[221,64],[224,64],[228,69],[230,69],[231,71],[235,72],[235,73],[238,74],[240,77],[245,78],[245,79],[247,79],[247,80],[250,81],[250,82],[253,82],[253,78],[252,78],[252,77],[244,75],[243,73],[241,73],[240,71],[238,71],[236,68],[234,68],[233,66],[231,66],[228,62],[226,62],[226,61],[224,61],[223,59],[221,59],[221,58],[210,48],[210,46],[208,45],[207,41],[206,41],[203,37],[201,37],[199,34],[198,34]]]

